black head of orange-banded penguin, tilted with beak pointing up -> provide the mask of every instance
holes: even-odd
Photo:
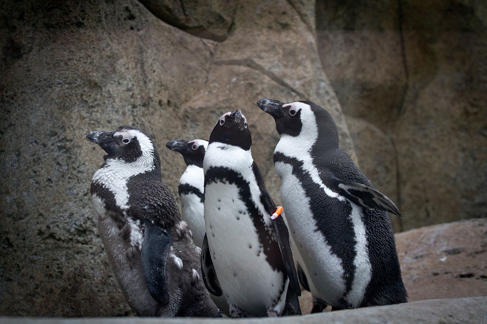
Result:
[[[211,131],[209,142],[220,142],[238,146],[245,151],[250,150],[252,136],[248,129],[247,119],[240,109],[229,111],[218,119]]]

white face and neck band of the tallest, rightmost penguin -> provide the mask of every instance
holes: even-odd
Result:
[[[296,108],[296,111],[301,111],[301,132],[298,136],[282,134],[274,153],[280,152],[301,161],[304,170],[309,172],[313,181],[319,184],[319,187],[323,188],[328,196],[344,201],[345,197],[340,196],[325,186],[319,177],[317,167],[313,164],[311,149],[318,139],[318,125],[316,124],[315,114],[313,114],[311,107],[306,103],[291,102],[290,104]],[[279,174],[279,176],[282,178],[285,174]]]

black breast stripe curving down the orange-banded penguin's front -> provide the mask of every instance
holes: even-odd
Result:
[[[247,207],[250,219],[259,235],[259,243],[267,263],[270,264],[273,270],[280,271],[284,275],[285,269],[282,263],[279,244],[274,235],[271,234],[272,230],[263,222],[261,212],[250,198],[252,195],[250,193],[248,181],[244,180],[239,173],[228,168],[211,167],[206,171],[205,187],[208,184],[217,182],[227,182],[228,184],[236,185],[239,188],[239,198]]]

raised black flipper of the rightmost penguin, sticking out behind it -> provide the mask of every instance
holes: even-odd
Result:
[[[357,205],[366,209],[387,211],[401,217],[401,212],[396,205],[386,195],[374,188],[358,182],[341,181],[337,178],[331,178],[329,182],[341,195]]]

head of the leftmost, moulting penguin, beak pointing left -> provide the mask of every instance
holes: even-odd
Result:
[[[121,126],[113,132],[94,131],[86,138],[98,144],[107,155],[105,160],[121,160],[127,163],[140,162],[160,167],[160,160],[152,139],[140,129]]]

